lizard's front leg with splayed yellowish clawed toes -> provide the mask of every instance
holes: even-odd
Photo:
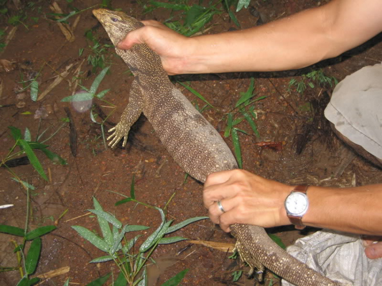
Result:
[[[113,132],[112,135],[107,137],[110,140],[109,146],[114,148],[119,140],[123,137],[122,146],[125,147],[127,141],[127,135],[129,133],[131,125],[140,117],[143,109],[143,97],[137,80],[134,80],[131,84],[129,103],[125,110],[122,112],[121,119],[116,127],[113,127],[108,132]]]

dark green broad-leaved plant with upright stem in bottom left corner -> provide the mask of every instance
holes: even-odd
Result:
[[[12,240],[15,246],[15,248],[13,249],[13,252],[15,252],[17,255],[18,265],[14,267],[5,267],[5,266],[0,267],[0,272],[17,271],[17,270],[20,272],[21,279],[16,286],[34,285],[39,281],[39,278],[37,277],[30,278],[29,276],[35,272],[39,258],[40,258],[41,237],[56,229],[56,226],[54,225],[47,225],[47,226],[38,227],[32,231],[28,230],[29,213],[30,213],[28,190],[29,188],[27,187],[26,188],[26,193],[27,193],[26,206],[27,207],[26,207],[25,228],[22,229],[16,226],[0,224],[0,233],[5,233],[5,234],[22,238],[21,244],[18,244],[16,240]],[[25,246],[27,244],[30,245],[28,252],[25,251]]]

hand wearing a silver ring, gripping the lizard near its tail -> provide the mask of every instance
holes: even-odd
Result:
[[[245,170],[221,171],[207,177],[203,202],[210,219],[225,232],[234,223],[272,227],[290,224],[284,201],[292,189]],[[224,213],[216,204],[219,200]]]

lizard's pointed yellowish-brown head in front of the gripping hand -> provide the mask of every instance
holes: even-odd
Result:
[[[93,10],[93,14],[101,22],[114,45],[123,40],[128,32],[143,26],[141,22],[120,11],[97,9]]]

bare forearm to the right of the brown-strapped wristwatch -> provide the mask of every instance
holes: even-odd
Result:
[[[308,188],[303,223],[349,233],[382,236],[382,184],[353,188]],[[285,219],[285,218],[284,218]]]

